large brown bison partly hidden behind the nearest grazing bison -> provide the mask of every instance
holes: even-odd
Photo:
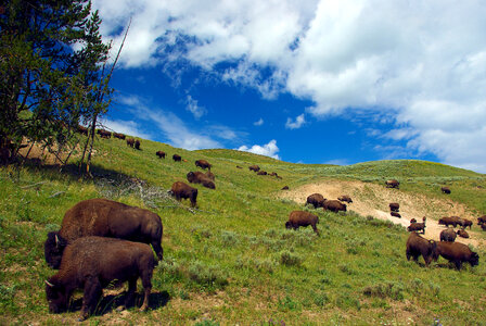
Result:
[[[46,262],[52,268],[59,268],[65,246],[87,236],[149,243],[162,260],[162,235],[161,217],[151,211],[103,198],[88,199],[67,210],[59,231],[48,234]]]

